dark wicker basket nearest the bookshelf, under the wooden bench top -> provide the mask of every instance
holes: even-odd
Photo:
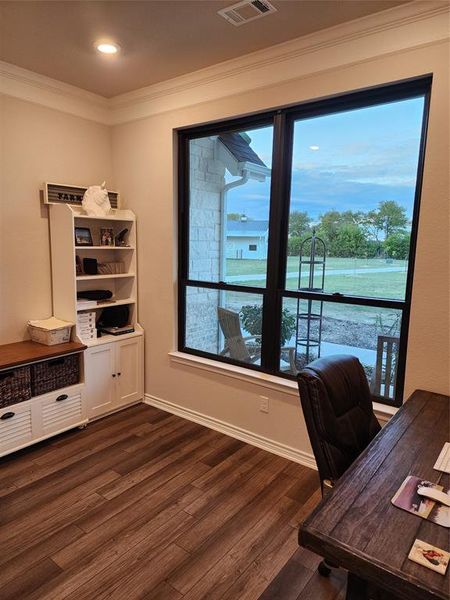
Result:
[[[80,359],[78,354],[61,356],[52,360],[31,365],[31,388],[33,396],[40,396],[80,380]]]

